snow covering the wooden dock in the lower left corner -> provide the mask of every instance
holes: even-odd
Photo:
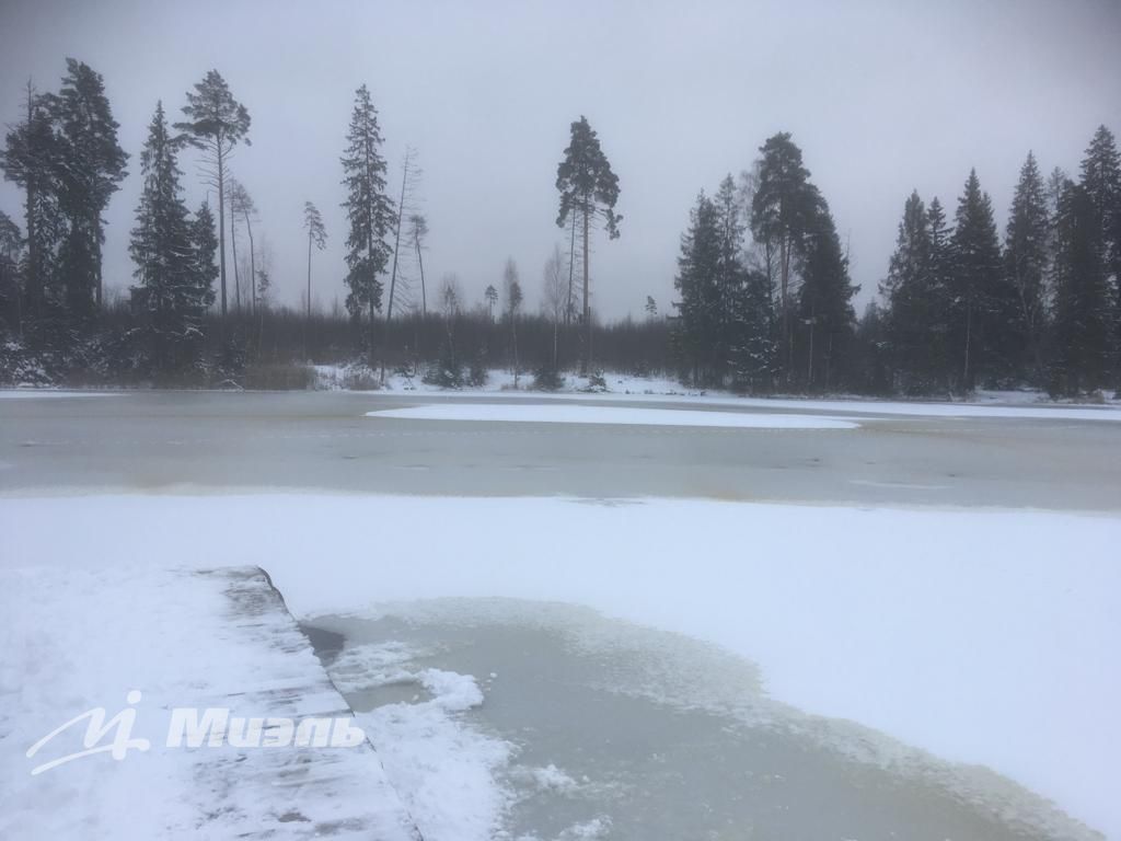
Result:
[[[4,505],[6,519],[13,506]],[[114,564],[74,537],[67,556],[3,548],[0,837],[413,838],[369,743],[167,747],[172,708],[350,717],[259,570],[168,570],[152,563],[150,546],[140,563]],[[183,548],[192,565],[203,560]],[[29,560],[52,565],[12,566]],[[84,726],[34,758],[25,756],[30,746],[94,706],[113,717],[133,690],[132,734],[148,739],[149,750],[120,761],[85,757],[31,776],[37,763],[82,749]]]

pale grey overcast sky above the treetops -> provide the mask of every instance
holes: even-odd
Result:
[[[163,99],[219,70],[252,117],[233,163],[260,210],[277,295],[305,283],[305,200],[323,212],[314,297],[344,296],[339,157],[354,89],[369,85],[393,181],[406,146],[424,169],[426,275],[455,272],[469,303],[512,257],[530,305],[555,242],[556,166],[586,114],[619,175],[622,237],[596,238],[608,317],[673,298],[697,194],[794,133],[874,292],[911,188],[954,206],[971,166],[998,221],[1019,166],[1076,172],[1094,129],[1121,132],[1121,2],[239,2],[0,0],[0,119],[22,85],[56,90],[65,57],[103,74],[130,176],[109,206],[105,277],[131,283],[139,151]],[[192,206],[205,191],[183,161]],[[21,219],[13,185],[0,209]],[[232,275],[231,275],[232,284]]]

